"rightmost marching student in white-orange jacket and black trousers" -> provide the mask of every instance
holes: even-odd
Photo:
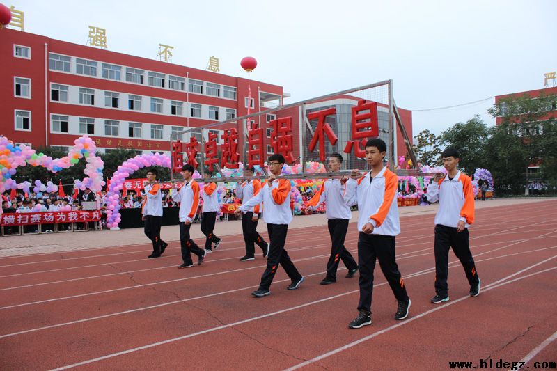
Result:
[[[470,296],[480,294],[480,278],[470,251],[468,227],[474,222],[474,193],[470,177],[460,173],[460,154],[455,148],[441,152],[447,175],[437,173],[427,187],[427,200],[439,200],[435,215],[435,296],[432,303],[443,303],[448,297],[448,251],[453,252],[464,268],[470,283]]]

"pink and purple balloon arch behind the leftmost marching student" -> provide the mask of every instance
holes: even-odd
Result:
[[[171,167],[170,157],[161,155],[160,153],[149,155],[137,155],[132,159],[128,159],[118,166],[113,173],[109,190],[107,192],[107,226],[111,229],[118,229],[118,224],[122,221],[120,217],[120,191],[124,187],[127,177],[146,166],[163,166]]]

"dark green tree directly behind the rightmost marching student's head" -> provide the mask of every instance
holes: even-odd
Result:
[[[487,125],[476,115],[466,123],[456,123],[439,136],[444,148],[453,147],[460,152],[459,166],[467,174],[476,168],[487,168],[485,146],[489,139]]]

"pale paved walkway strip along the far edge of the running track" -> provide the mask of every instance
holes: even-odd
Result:
[[[483,202],[476,201],[476,209],[519,204],[524,204],[526,206],[540,201],[554,201],[557,203],[557,198],[500,198]],[[427,206],[405,206],[400,207],[399,212],[401,217],[434,214],[437,212],[438,206],[439,205],[437,204]],[[352,212],[352,222],[356,221],[357,218],[358,212]],[[324,214],[295,216],[292,223],[290,223],[289,229],[323,226],[326,223],[327,219]],[[193,239],[204,238],[200,227],[200,223],[195,223],[191,227],[191,237]],[[267,230],[267,226],[261,221],[258,224],[257,229],[258,231],[265,232]],[[237,235],[242,233],[242,224],[240,221],[223,221],[217,223],[215,226],[215,233],[219,237]],[[178,226],[163,226],[161,228],[161,237],[167,242],[178,241],[180,239]],[[6,236],[0,237],[0,257],[147,243],[148,239],[145,235],[143,235],[143,228],[129,228],[116,231],[102,230],[71,233],[48,233],[42,235]]]

